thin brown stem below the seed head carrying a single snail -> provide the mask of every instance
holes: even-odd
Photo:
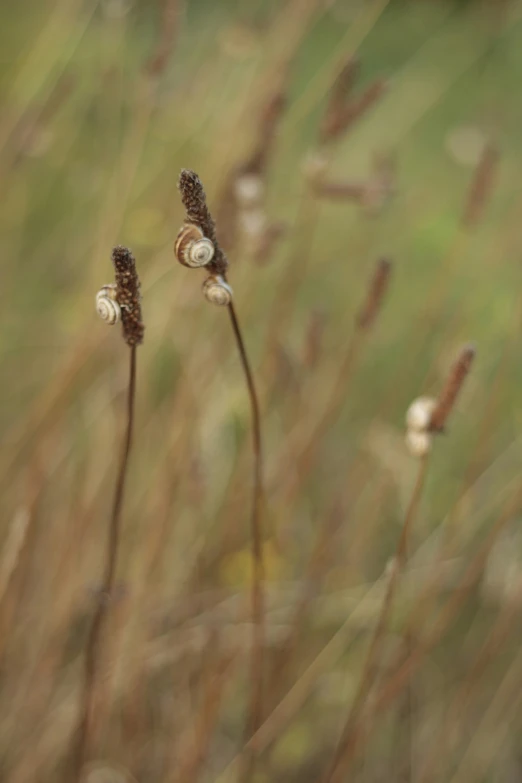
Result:
[[[123,448],[120,457],[116,488],[112,503],[109,535],[106,548],[106,560],[96,611],[92,621],[87,647],[85,650],[85,667],[82,691],[82,707],[80,724],[77,733],[77,742],[74,749],[74,775],[80,781],[82,768],[87,761],[90,750],[90,742],[93,724],[95,721],[97,677],[102,653],[102,641],[105,622],[110,610],[113,598],[114,577],[121,538],[121,512],[123,496],[127,478],[127,468],[132,445],[134,429],[134,401],[136,397],[136,346],[130,346],[129,384],[127,391],[127,425]]]

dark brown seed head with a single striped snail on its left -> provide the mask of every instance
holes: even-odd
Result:
[[[124,340],[127,345],[141,345],[145,325],[141,315],[140,280],[136,271],[136,260],[128,247],[117,245],[112,251],[112,262]]]

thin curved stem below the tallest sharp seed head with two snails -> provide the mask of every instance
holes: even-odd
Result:
[[[245,374],[250,408],[252,412],[252,448],[254,456],[254,485],[251,516],[251,540],[252,540],[252,583],[251,583],[251,608],[252,608],[252,650],[250,659],[250,704],[246,725],[246,741],[255,734],[262,721],[263,712],[263,658],[264,658],[264,563],[263,541],[261,529],[261,504],[263,499],[263,460],[261,444],[261,415],[259,401],[254,383],[254,376],[248,360],[248,355],[243,341],[241,328],[233,303],[228,305],[228,312],[232,324],[232,330],[237,343],[241,364]],[[245,773],[248,779],[252,771],[253,757],[249,754],[250,761]]]

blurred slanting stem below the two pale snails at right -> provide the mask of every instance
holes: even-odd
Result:
[[[331,783],[331,781],[336,779],[337,771],[344,760],[346,748],[350,745],[354,728],[357,727],[359,723],[359,717],[365,707],[370,691],[375,683],[378,672],[379,653],[386,636],[386,629],[388,627],[388,622],[391,616],[393,599],[395,597],[400,570],[404,566],[407,557],[408,542],[410,540],[413,521],[415,519],[422,496],[427,466],[428,460],[426,457],[423,457],[419,462],[417,479],[415,481],[410,503],[404,518],[404,524],[402,526],[401,535],[399,537],[399,542],[395,551],[395,557],[391,564],[389,579],[381,606],[381,612],[375,626],[368,654],[366,656],[361,678],[359,680],[359,687],[352,702],[352,706],[344,725],[341,740],[337,746],[334,758],[326,774],[323,776],[323,783]]]

